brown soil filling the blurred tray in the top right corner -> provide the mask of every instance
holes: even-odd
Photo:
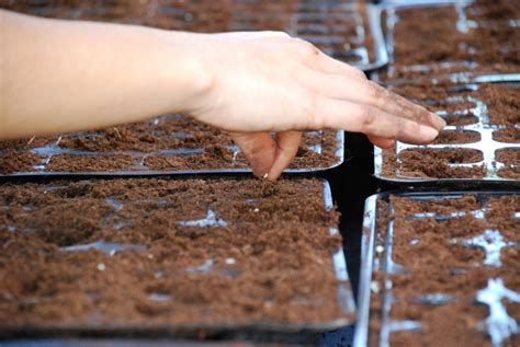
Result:
[[[511,11],[511,10],[516,11]],[[481,0],[462,10],[476,27],[459,30],[454,5],[398,9],[393,30],[393,62],[382,80],[418,79],[453,72],[507,72],[520,70],[520,31],[505,18],[520,18],[511,1]],[[427,25],[425,25],[427,23]],[[443,63],[449,63],[443,66]],[[427,65],[426,69],[410,66]]]

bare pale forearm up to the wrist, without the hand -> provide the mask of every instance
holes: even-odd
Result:
[[[0,139],[186,111],[210,82],[196,34],[0,15]]]

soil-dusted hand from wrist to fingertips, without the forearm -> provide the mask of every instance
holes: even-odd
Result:
[[[362,71],[285,33],[199,37],[194,48],[210,80],[189,113],[228,131],[258,176],[280,176],[296,154],[302,130],[364,132],[387,148],[395,140],[431,142],[445,126]]]

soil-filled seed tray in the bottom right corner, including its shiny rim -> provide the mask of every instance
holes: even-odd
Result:
[[[365,203],[354,346],[516,346],[520,194]]]

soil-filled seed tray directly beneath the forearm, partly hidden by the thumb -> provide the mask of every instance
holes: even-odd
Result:
[[[286,172],[343,162],[343,131],[307,131]],[[2,176],[250,172],[229,136],[181,115],[100,131],[0,142]]]

